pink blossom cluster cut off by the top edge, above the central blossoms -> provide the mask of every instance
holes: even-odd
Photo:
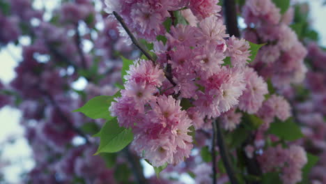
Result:
[[[221,6],[217,6],[219,0],[105,0],[106,11],[119,13],[125,23],[130,26],[132,32],[137,33],[139,38],[153,41],[156,36],[164,35],[163,22],[171,12],[180,8],[189,8],[200,20],[218,15]]]

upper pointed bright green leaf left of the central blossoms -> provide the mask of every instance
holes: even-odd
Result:
[[[114,101],[114,98],[121,96],[120,91],[118,91],[113,96],[100,95],[91,100],[88,100],[83,107],[76,109],[73,112],[81,112],[88,116],[89,118],[97,119],[104,118],[106,120],[110,120],[113,117],[109,113],[109,107],[111,102]]]

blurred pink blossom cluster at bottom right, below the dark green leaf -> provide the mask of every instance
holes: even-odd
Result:
[[[306,164],[306,151],[301,146],[281,145],[269,147],[258,157],[264,172],[279,171],[283,183],[295,184],[302,180],[302,167]]]

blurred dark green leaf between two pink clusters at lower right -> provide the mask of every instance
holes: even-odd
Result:
[[[292,118],[284,122],[275,118],[275,121],[270,123],[270,129],[267,132],[287,141],[295,141],[304,136],[299,125],[294,123]]]

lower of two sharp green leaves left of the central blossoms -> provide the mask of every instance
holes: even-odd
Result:
[[[100,132],[100,146],[95,155],[121,151],[133,139],[132,129],[120,127],[117,118],[113,118],[111,121],[105,123]]]

